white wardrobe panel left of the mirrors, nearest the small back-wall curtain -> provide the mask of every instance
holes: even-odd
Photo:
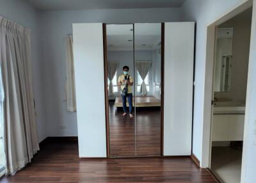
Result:
[[[73,24],[73,38],[79,157],[106,157],[102,24]]]

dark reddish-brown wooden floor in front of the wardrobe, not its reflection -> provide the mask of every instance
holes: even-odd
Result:
[[[189,157],[79,159],[76,141],[46,143],[31,164],[1,183],[215,182]]]

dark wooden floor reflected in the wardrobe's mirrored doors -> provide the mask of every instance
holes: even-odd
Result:
[[[161,110],[136,110],[134,118],[109,103],[109,144],[111,157],[161,155]],[[136,120],[136,123],[135,123]]]

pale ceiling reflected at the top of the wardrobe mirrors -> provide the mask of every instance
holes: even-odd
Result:
[[[133,38],[134,33],[134,38]],[[108,24],[106,26],[108,51],[152,51],[160,48],[161,23]]]

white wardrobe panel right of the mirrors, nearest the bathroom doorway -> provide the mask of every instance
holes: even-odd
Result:
[[[191,155],[194,35],[195,22],[164,24],[164,155]]]

